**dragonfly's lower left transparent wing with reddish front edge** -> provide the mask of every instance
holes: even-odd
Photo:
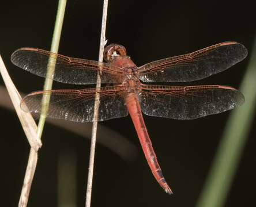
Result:
[[[75,122],[92,122],[96,89],[35,91],[21,101],[25,112],[42,112],[42,97],[50,98],[47,116]],[[123,86],[101,87],[98,121],[125,117],[128,111]]]

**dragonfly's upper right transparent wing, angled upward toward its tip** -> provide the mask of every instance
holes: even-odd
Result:
[[[144,82],[187,82],[227,70],[247,56],[244,45],[229,41],[186,55],[169,57],[138,68]]]

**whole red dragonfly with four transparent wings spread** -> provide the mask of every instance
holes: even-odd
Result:
[[[12,54],[16,66],[46,77],[47,66],[55,64],[51,78],[62,83],[95,84],[97,73],[101,83],[111,86],[99,89],[50,90],[28,94],[21,109],[40,113],[43,95],[50,95],[48,117],[76,122],[92,122],[96,93],[100,94],[98,121],[125,117],[133,120],[142,150],[157,182],[165,192],[172,190],[165,181],[150,141],[142,112],[149,116],[190,120],[217,114],[244,102],[243,94],[230,86],[160,86],[142,82],[189,82],[227,70],[243,60],[247,49],[228,41],[198,51],[157,60],[137,67],[122,45],[111,44],[104,50],[104,60],[67,57],[36,48],[21,48]],[[52,63],[53,62],[53,63]]]

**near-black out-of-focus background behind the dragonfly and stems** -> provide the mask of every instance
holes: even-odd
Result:
[[[67,2],[59,53],[98,59],[102,2]],[[10,55],[20,47],[50,49],[57,6],[53,0],[1,3],[0,52],[18,90],[24,93],[42,89],[43,79],[14,66]],[[108,43],[125,45],[137,66],[227,40],[244,44],[250,56],[256,22],[249,1],[110,0],[108,7]],[[239,88],[248,63],[249,58],[193,85]],[[67,87],[77,88],[54,83],[55,89]],[[195,206],[228,115],[192,121],[144,116],[173,196],[164,193],[150,173],[130,117],[102,122],[137,145],[138,155],[127,162],[97,145],[92,206]],[[1,206],[17,206],[29,145],[14,112],[0,109],[0,117]],[[255,118],[252,126],[225,206],[256,204]],[[43,144],[28,206],[57,206],[57,162],[63,149],[77,157],[77,206],[84,206],[90,141],[47,124]]]

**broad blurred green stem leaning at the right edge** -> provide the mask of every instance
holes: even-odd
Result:
[[[246,102],[231,112],[197,207],[224,206],[255,114],[256,39],[240,90]]]

